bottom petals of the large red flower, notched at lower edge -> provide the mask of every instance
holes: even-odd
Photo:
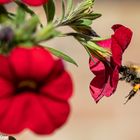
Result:
[[[0,130],[7,134],[16,134],[25,128],[38,134],[47,134],[55,129],[49,119],[49,113],[44,110],[35,93],[22,93],[15,96],[0,123]]]

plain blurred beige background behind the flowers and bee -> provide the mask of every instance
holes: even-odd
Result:
[[[57,2],[59,14],[60,0]],[[44,15],[40,8],[36,10],[43,20]],[[140,64],[140,1],[96,0],[94,11],[101,13],[102,17],[95,20],[92,27],[103,37],[109,37],[113,33],[113,24],[121,23],[132,29],[133,39],[123,55],[123,63]],[[132,87],[119,82],[114,95],[105,97],[96,104],[89,92],[89,83],[94,75],[89,70],[89,58],[84,48],[72,37],[54,39],[46,44],[69,54],[79,64],[77,68],[66,63],[74,83],[71,115],[67,123],[53,135],[38,136],[25,130],[15,136],[17,140],[139,140],[140,95],[123,105],[124,97]]]

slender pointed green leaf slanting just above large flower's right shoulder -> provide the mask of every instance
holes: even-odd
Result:
[[[56,50],[56,49],[54,49],[54,48],[50,48],[50,47],[47,47],[47,49],[48,49],[53,55],[55,55],[55,56],[57,56],[57,57],[59,57],[59,58],[62,58],[62,59],[64,59],[65,61],[68,61],[68,62],[70,62],[70,63],[72,63],[72,64],[78,66],[77,63],[76,63],[70,56],[64,54],[63,52],[58,51],[58,50]]]

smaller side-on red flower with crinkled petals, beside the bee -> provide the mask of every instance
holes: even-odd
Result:
[[[91,71],[95,74],[95,78],[90,83],[90,91],[96,102],[103,96],[109,97],[115,92],[119,80],[122,54],[132,37],[131,30],[122,25],[114,25],[112,29],[115,33],[110,39],[97,42],[98,45],[111,50],[110,66],[96,58],[95,62],[90,60],[89,63]]]

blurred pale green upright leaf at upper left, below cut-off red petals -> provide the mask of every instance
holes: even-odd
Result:
[[[26,13],[22,7],[17,8],[16,17],[15,17],[15,24],[21,25],[25,21]]]

